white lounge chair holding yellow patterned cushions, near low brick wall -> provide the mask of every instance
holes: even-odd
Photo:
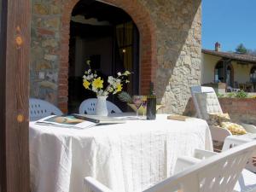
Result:
[[[208,113],[223,113],[218,102],[218,97],[216,96],[216,93],[212,87],[204,87],[198,85],[192,86],[190,90],[198,118],[207,120],[209,118]],[[198,94],[207,94],[207,98],[205,100],[198,101],[196,96]],[[247,128],[249,125],[243,124],[243,126],[248,132],[256,133],[255,126],[250,125],[250,129]],[[210,126],[210,130],[212,134],[212,140],[217,143],[224,143],[225,137],[232,135],[229,130],[219,129],[216,126]]]

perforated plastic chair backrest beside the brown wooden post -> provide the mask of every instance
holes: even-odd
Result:
[[[46,102],[41,99],[30,98],[29,99],[29,119],[38,120],[49,115],[61,115],[62,112],[59,108],[50,102]]]

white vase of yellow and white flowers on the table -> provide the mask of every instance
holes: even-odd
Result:
[[[124,73],[117,73],[117,77],[108,76],[108,84],[104,86],[104,80],[102,77],[98,76],[96,71],[91,70],[90,60],[86,61],[89,69],[84,72],[83,75],[83,85],[86,90],[92,90],[96,93],[97,103],[96,103],[96,114],[107,116],[107,97],[109,94],[117,94],[123,90],[123,84],[128,84],[128,76],[131,74],[129,71]]]

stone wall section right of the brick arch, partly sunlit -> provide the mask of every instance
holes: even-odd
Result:
[[[201,1],[143,1],[157,35],[156,93],[162,113],[183,113],[201,79]],[[158,9],[156,9],[158,8]]]

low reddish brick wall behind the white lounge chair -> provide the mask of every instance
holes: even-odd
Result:
[[[255,98],[218,98],[218,101],[223,112],[230,114],[232,122],[256,125]],[[183,114],[195,116],[195,106],[191,98]]]

